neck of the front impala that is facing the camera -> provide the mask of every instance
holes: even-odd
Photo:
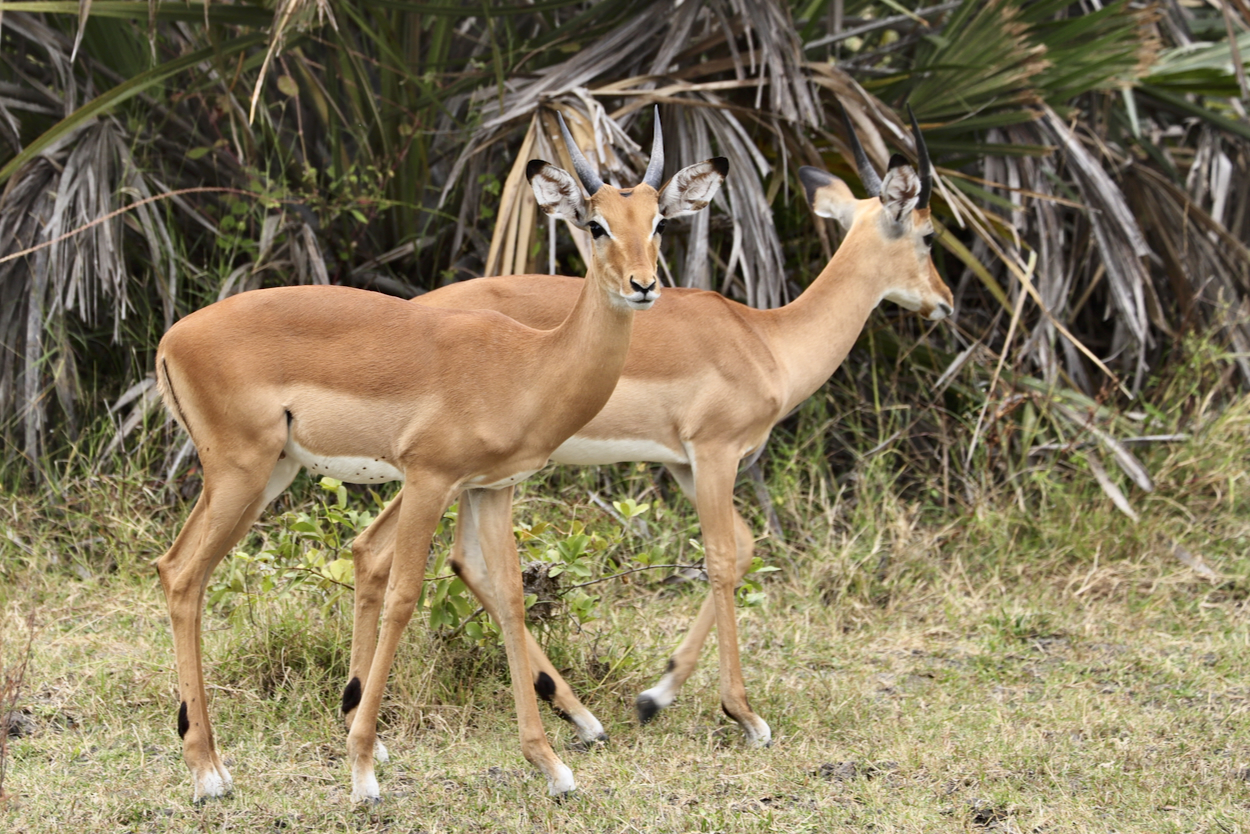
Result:
[[[569,316],[549,330],[541,385],[548,388],[551,428],[568,435],[590,421],[608,403],[625,368],[634,330],[634,310],[614,303],[612,290],[594,261]],[[660,301],[662,304],[662,300]],[[556,423],[562,425],[555,425]]]

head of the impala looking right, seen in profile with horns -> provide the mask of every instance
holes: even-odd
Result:
[[[846,183],[819,168],[799,169],[799,179],[812,210],[822,218],[838,220],[846,229],[842,246],[866,246],[864,256],[880,265],[879,274],[885,281],[881,298],[930,321],[940,321],[954,311],[954,298],[930,256],[934,239],[929,210],[932,165],[910,106],[908,113],[920,156],[919,173],[895,154],[885,179],[878,176],[844,110],[842,123],[869,199],[856,200]]]

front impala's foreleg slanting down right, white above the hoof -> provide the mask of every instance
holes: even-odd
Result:
[[[512,488],[499,490],[468,490],[461,500],[478,520],[478,533],[481,538],[481,551],[486,561],[491,588],[495,589],[495,613],[500,630],[504,633],[504,646],[508,650],[508,668],[512,676],[512,698],[516,701],[516,723],[521,736],[521,753],[548,779],[548,791],[552,796],[566,794],[576,788],[572,771],[569,770],[551,749],[546,733],[542,731],[542,719],[539,716],[539,703],[530,681],[529,651],[526,648],[525,599],[521,590],[521,566],[516,554],[516,539],[512,534]]]

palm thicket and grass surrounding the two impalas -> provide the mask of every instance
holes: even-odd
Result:
[[[1245,830],[1248,50],[1242,0],[0,3],[6,828]],[[838,243],[798,166],[859,189],[840,110],[881,168],[905,104],[956,315],[874,315],[744,474],[774,750],[724,734],[714,676],[626,720],[698,604],[698,529],[655,469],[556,471],[519,524],[555,574],[535,628],[619,721],[585,798],[520,769],[435,559],[395,804],[352,811],[346,545],[389,493],[301,479],[211,591],[246,793],[182,804],[148,566],[198,490],[150,375],[170,323],[275,284],[580,274],[521,166],[564,161],[559,110],[635,181],[652,105],[672,164],[732,165],[665,235],[671,281],[784,304]]]

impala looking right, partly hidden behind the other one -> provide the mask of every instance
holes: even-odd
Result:
[[[811,286],[775,310],[756,310],[718,293],[665,289],[665,303],[635,325],[625,370],[608,405],[551,454],[554,463],[565,464],[664,464],[699,513],[711,594],[660,681],[638,696],[644,723],[672,703],[715,624],[721,708],[742,728],[748,744],[771,741],[768,723],[748,703],[734,619],[734,588],[755,550],[750,528],[734,509],[739,461],[760,450],[772,426],[838,370],[882,300],[930,321],[952,311],[950,289],[929,251],[932,173],[915,119],[919,171],[895,155],[884,180],[849,121],[846,128],[870,196],[855,199],[842,180],[820,169],[800,170],[812,210],[848,230]],[[580,285],[578,279],[558,276],[481,278],[444,286],[415,303],[492,309],[530,326],[549,328],[559,323]],[[401,500],[402,494],[391,511]],[[380,596],[394,535],[384,515],[356,538],[358,595]],[[474,516],[461,515],[451,565],[494,616],[504,589],[491,585],[486,571],[491,558],[484,555],[482,541]],[[379,588],[365,586],[366,578]],[[355,643],[368,639],[376,618],[376,608],[358,611],[354,658]],[[582,740],[600,738],[599,719],[578,700],[528,631],[525,639],[538,693],[574,724]]]

